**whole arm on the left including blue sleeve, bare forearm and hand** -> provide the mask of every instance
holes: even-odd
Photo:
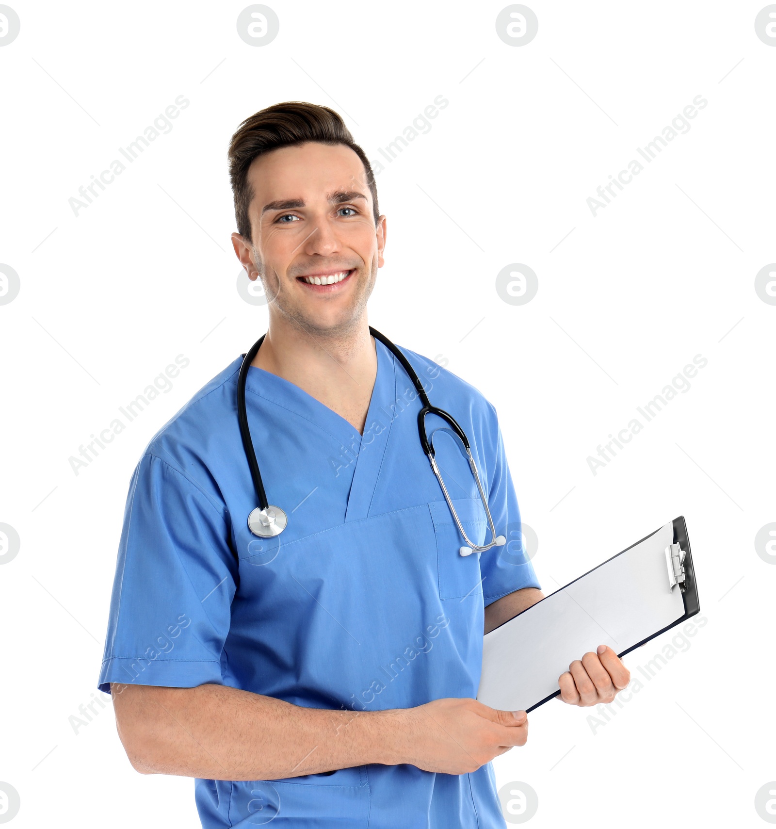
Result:
[[[463,774],[526,742],[525,712],[471,699],[355,712],[224,686],[218,654],[238,579],[230,519],[216,494],[153,453],[133,473],[116,574],[99,686],[142,773],[271,780],[408,763]]]

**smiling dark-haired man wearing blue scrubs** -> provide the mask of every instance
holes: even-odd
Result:
[[[504,827],[490,760],[528,725],[473,699],[483,631],[543,597],[523,553],[460,555],[420,401],[371,337],[386,216],[369,162],[332,109],[298,102],[246,119],[229,157],[235,253],[269,299],[247,416],[289,524],[271,538],[247,524],[238,357],[133,473],[99,688],[134,768],[196,778],[207,829]],[[519,526],[492,405],[402,351],[468,434],[497,532]],[[468,463],[444,420],[427,425],[482,545]],[[601,647],[560,676],[560,696],[608,702],[628,680]]]

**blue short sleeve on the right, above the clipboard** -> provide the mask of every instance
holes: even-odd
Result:
[[[517,494],[507,464],[501,428],[497,421],[495,430],[497,433],[496,458],[487,503],[496,533],[505,536],[507,543],[501,547],[491,547],[490,550],[480,555],[480,572],[483,574],[483,597],[486,607],[496,599],[524,587],[541,589],[523,542]]]

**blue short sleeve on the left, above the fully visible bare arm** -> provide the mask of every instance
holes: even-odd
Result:
[[[221,684],[236,560],[226,507],[157,456],[129,485],[99,690]]]

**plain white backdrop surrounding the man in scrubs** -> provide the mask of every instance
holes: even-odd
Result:
[[[96,694],[129,477],[148,439],[264,331],[235,288],[226,149],[242,119],[337,109],[373,162],[438,95],[449,106],[377,177],[386,266],[370,322],[448,361],[497,406],[547,591],[686,516],[706,627],[609,722],[551,701],[495,761],[535,827],[759,826],[774,764],[776,48],[762,2],[281,2],[249,46],[244,2],[17,2],[0,48],[0,780],[14,827],[196,826],[193,783],[135,773]],[[191,104],[87,209],[68,199],[178,95]],[[708,104],[596,216],[586,200],[696,95]],[[561,241],[562,240],[562,241]],[[560,243],[560,244],[559,244]],[[496,292],[523,263],[530,303]],[[731,330],[732,329],[732,330]],[[76,476],[68,458],[177,354],[191,364]],[[708,365],[594,475],[587,458],[696,354]],[[643,420],[643,419],[642,419]],[[644,423],[644,420],[643,420]],[[415,450],[413,450],[415,451]],[[420,447],[417,448],[420,451]],[[238,459],[235,459],[237,462]],[[626,657],[634,676],[671,634]],[[776,786],[774,786],[776,788]]]

